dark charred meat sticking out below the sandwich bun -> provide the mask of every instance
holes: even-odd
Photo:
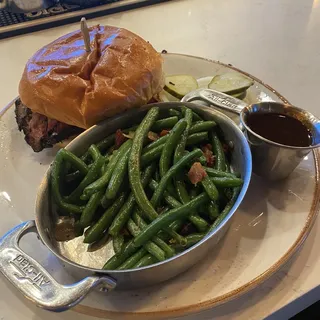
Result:
[[[51,148],[56,143],[83,131],[81,128],[32,112],[20,99],[16,100],[15,105],[18,128],[23,131],[26,142],[35,152]]]

